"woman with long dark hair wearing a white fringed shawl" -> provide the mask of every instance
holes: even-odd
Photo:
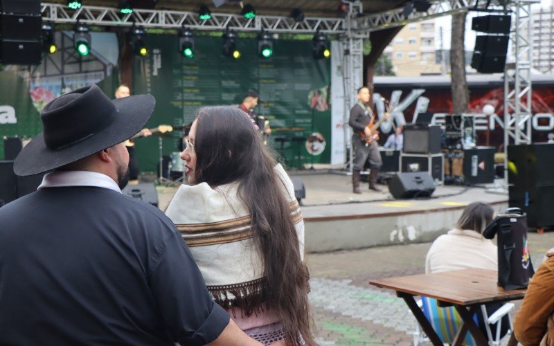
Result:
[[[314,345],[300,207],[249,116],[200,109],[181,158],[190,186],[166,213],[215,302],[262,343]]]

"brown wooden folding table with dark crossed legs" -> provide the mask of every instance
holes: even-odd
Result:
[[[507,302],[524,298],[525,289],[505,291],[497,286],[497,272],[484,269],[463,269],[443,273],[389,277],[369,282],[377,287],[393,289],[403,298],[418,320],[433,345],[443,345],[440,338],[425,318],[423,311],[413,299],[414,295],[435,298],[441,307],[454,305],[463,320],[452,345],[461,345],[470,331],[477,345],[488,345],[487,338],[474,322],[472,316],[480,311],[481,304]],[[513,336],[513,334],[512,334]],[[510,340],[510,343],[515,339]]]

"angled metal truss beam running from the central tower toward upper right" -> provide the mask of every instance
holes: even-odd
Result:
[[[404,8],[400,7],[386,12],[358,17],[353,22],[353,28],[359,31],[376,31],[385,28],[393,28],[395,26],[404,26],[415,21],[424,21],[445,15],[454,15],[455,13],[466,12],[470,9],[484,10],[487,8],[487,2],[488,1],[479,0],[437,1],[431,3],[431,7],[427,12],[412,12],[407,18],[402,14]],[[495,6],[500,6],[499,1],[491,1],[489,7]]]

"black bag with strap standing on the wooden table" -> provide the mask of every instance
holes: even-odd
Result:
[[[508,208],[483,231],[483,237],[498,233],[498,284],[503,289],[524,289],[535,274],[527,240],[527,215]]]

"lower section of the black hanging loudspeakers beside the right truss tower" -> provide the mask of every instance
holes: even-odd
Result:
[[[472,67],[481,73],[503,72],[506,65],[508,40],[507,35],[477,36],[472,55]]]

